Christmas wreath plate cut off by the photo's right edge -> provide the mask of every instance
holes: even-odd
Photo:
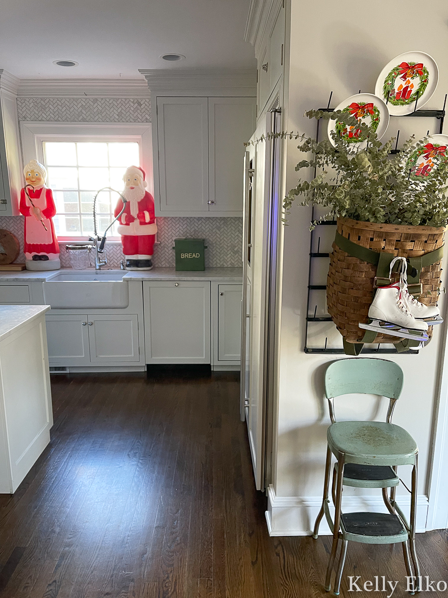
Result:
[[[448,160],[448,135],[431,135],[417,142],[416,149],[409,155],[404,170],[412,181],[425,181],[438,164]]]

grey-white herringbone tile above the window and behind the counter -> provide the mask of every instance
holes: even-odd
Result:
[[[89,122],[89,123],[149,123],[149,97],[18,97],[19,120]],[[0,228],[16,235],[23,249],[23,216],[0,216]],[[243,222],[241,218],[158,218],[158,244],[154,247],[154,265],[174,267],[173,241],[176,237],[205,239],[207,267],[241,266]],[[61,245],[61,264],[70,266]],[[123,259],[120,243],[106,245],[108,262],[119,267]],[[17,261],[24,261],[23,251]]]

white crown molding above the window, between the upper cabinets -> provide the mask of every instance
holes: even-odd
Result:
[[[143,79],[17,79],[18,96],[149,97]]]

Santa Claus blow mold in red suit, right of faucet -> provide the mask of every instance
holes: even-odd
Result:
[[[123,180],[122,195],[127,202],[119,218],[118,233],[121,234],[126,269],[151,270],[152,250],[157,233],[154,198],[145,190],[145,171],[139,166],[130,166],[124,173]],[[116,204],[115,218],[122,209],[123,201],[120,198]]]

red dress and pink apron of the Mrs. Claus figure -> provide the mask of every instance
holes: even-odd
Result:
[[[33,206],[26,197],[25,190],[20,191],[20,213],[25,216],[25,238],[23,251],[27,260],[32,259],[33,254],[48,255],[50,260],[59,258],[59,245],[56,233],[54,232],[53,218],[56,215],[53,193],[47,187],[40,187],[32,190],[27,187],[30,198],[36,208],[41,209],[42,221],[38,220],[32,212]],[[42,226],[44,222],[47,230]]]

